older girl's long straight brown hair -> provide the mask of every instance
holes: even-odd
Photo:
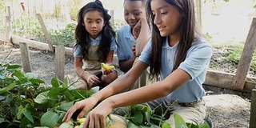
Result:
[[[183,15],[182,19],[182,38],[178,43],[178,54],[175,58],[174,68],[176,70],[178,66],[185,60],[186,53],[190,49],[190,46],[195,39],[195,14],[194,14],[194,2],[193,0],[165,0],[170,5],[176,7]],[[162,37],[158,27],[154,24],[154,15],[150,6],[151,0],[146,3],[146,13],[148,22],[152,23],[152,57],[150,58],[150,78],[157,78],[161,70],[162,59],[162,43],[166,38]]]

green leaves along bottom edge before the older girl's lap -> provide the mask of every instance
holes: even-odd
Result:
[[[176,104],[174,102],[171,106]],[[159,106],[160,107],[160,106]],[[150,109],[150,106],[146,104],[138,104],[134,106],[127,106],[124,116],[128,120],[128,127],[133,128],[171,128],[170,124],[166,122],[165,115],[168,112],[167,109],[162,115],[154,114],[154,110]],[[177,128],[209,128],[207,122],[197,126],[192,123],[186,123],[184,119],[174,114],[174,123]]]

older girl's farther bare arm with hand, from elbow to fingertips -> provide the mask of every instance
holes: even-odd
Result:
[[[130,86],[133,86],[134,82],[138,79],[142,72],[146,70],[148,66],[144,62],[138,62],[138,64],[136,65],[137,66],[135,66],[135,68],[132,67],[133,70],[129,70],[122,77],[117,78],[116,80],[114,80],[114,82],[111,82],[108,86],[104,87],[102,90],[99,90],[90,98],[86,98],[82,101],[76,102],[74,106],[72,106],[70,110],[67,111],[62,121],[70,121],[71,116],[76,110],[82,110],[82,112],[78,114],[78,118],[82,118],[82,116],[90,111],[97,102],[102,101],[110,97],[111,95],[118,94],[123,90],[130,88]]]

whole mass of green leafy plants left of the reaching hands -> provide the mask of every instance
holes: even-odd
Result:
[[[51,87],[22,66],[0,63],[0,127],[58,126],[74,102],[89,98],[91,90],[76,90],[68,78],[51,79]]]

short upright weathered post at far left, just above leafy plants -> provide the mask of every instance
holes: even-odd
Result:
[[[22,54],[22,66],[24,72],[31,72],[31,64],[30,64],[30,51],[29,46],[26,45],[26,42],[19,42],[19,46]]]

